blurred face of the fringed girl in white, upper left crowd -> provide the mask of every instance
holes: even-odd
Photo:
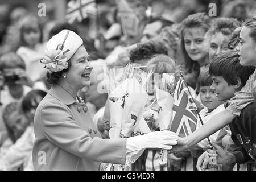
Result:
[[[32,27],[29,30],[25,30],[23,33],[24,42],[28,46],[34,47],[40,41],[40,30],[38,26]]]

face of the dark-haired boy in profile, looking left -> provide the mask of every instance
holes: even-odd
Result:
[[[226,101],[234,97],[236,89],[233,85],[228,85],[222,76],[212,76],[212,80],[210,88],[216,93],[218,101]]]

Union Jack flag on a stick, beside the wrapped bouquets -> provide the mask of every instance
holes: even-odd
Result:
[[[177,82],[174,92],[173,119],[171,131],[180,137],[185,137],[196,130],[197,126],[197,107],[193,102],[191,94],[184,83],[183,78]]]

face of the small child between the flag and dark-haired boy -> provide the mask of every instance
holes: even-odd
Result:
[[[200,86],[200,99],[202,104],[207,107],[208,110],[216,109],[223,102],[218,101],[216,94],[213,89],[210,89],[210,86]]]

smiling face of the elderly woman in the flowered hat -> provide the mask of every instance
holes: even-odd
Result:
[[[64,78],[70,85],[79,90],[90,85],[90,72],[93,67],[89,63],[89,55],[84,46],[80,46],[71,57],[71,67]]]

